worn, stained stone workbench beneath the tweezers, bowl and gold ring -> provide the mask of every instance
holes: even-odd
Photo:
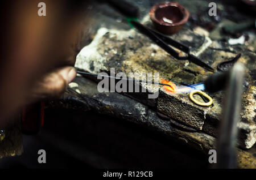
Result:
[[[246,76],[241,121],[238,123],[238,167],[256,168],[255,33],[246,32],[250,35],[250,39],[245,44],[230,45],[220,40],[222,35],[216,30],[219,28],[218,24],[225,22],[226,19],[241,22],[246,16],[239,13],[233,16],[229,12],[231,10],[226,11],[225,4],[216,2],[217,14],[220,15],[217,18],[209,18],[207,10],[210,1],[196,0],[191,3],[191,1],[183,0],[177,2],[188,9],[191,18],[181,31],[170,37],[189,46],[191,54],[200,57],[217,71],[219,63],[241,53],[238,62],[245,65]],[[142,11],[140,22],[147,27],[154,28],[148,11],[156,2],[137,1],[137,3]],[[107,5],[93,5],[92,10],[94,13],[90,22],[90,36],[83,40],[85,46],[77,55],[75,65],[77,68],[93,73],[102,71],[109,73],[110,68],[115,68],[116,73],[125,72],[127,76],[129,72],[159,72],[159,78],[168,79],[177,84],[181,82],[200,83],[212,74],[189,61],[177,61],[148,37],[131,29],[125,17],[108,8]],[[207,27],[202,27],[204,24],[202,22],[207,23]],[[209,30],[207,28],[210,25],[213,28]],[[223,36],[224,38],[226,36]],[[46,107],[47,109],[64,108],[84,112],[93,110],[100,114],[134,122],[152,131],[158,131],[172,140],[199,149],[206,155],[209,149],[216,149],[215,143],[221,121],[224,92],[208,93],[213,99],[213,104],[203,107],[189,100],[188,93],[170,94],[160,86],[152,89],[143,83],[141,86],[148,92],[100,93],[96,82],[77,76],[69,84],[63,98],[46,102]],[[158,98],[147,98],[148,93],[156,91],[159,91]],[[198,99],[199,96],[195,95],[195,98]],[[81,117],[82,119],[84,117]],[[172,121],[192,127],[195,132],[177,128]],[[3,156],[6,155],[8,154]]]

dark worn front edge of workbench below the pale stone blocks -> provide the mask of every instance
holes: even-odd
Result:
[[[216,149],[216,138],[205,132],[189,132],[176,128],[168,120],[160,118],[155,110],[147,105],[133,100],[119,93],[97,91],[97,84],[84,77],[77,77],[59,101],[50,101],[46,108],[66,108],[74,110],[94,110],[100,114],[134,122],[151,130],[159,131],[163,135],[177,142],[191,145],[208,155],[209,149]],[[82,118],[82,117],[81,117]],[[247,150],[237,148],[239,168],[256,168],[255,147]]]

